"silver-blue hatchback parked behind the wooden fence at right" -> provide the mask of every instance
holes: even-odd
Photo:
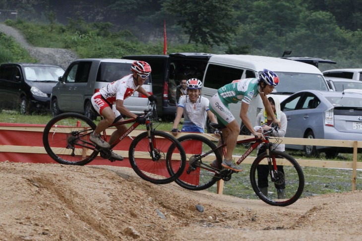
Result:
[[[335,91],[299,91],[281,103],[288,127],[285,137],[362,140],[362,94]],[[325,152],[327,158],[352,148],[286,145],[304,150],[307,157]],[[360,150],[359,150],[360,151]]]

